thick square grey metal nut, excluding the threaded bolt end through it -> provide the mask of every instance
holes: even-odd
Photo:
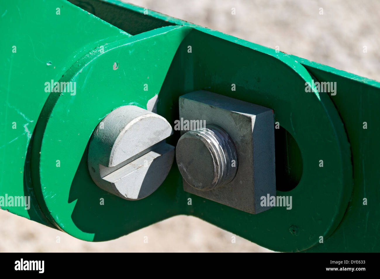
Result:
[[[233,142],[230,145],[236,146],[237,151],[237,156],[228,158],[227,161],[228,166],[236,173],[233,180],[230,179],[215,189],[208,189],[207,192],[199,191],[184,176],[184,170],[188,169],[186,172],[190,172],[190,176],[206,175],[202,171],[207,169],[206,162],[203,162],[205,155],[191,143],[185,143],[184,146],[181,139],[184,140],[183,137],[189,132],[181,131],[181,134],[186,133],[177,143],[176,158],[184,176],[184,190],[254,214],[270,209],[266,203],[261,204],[261,198],[276,194],[272,109],[199,90],[179,98],[179,117],[184,121],[205,121],[206,124],[214,124],[224,129]],[[183,152],[185,154],[178,158],[178,153]],[[201,173],[194,174],[191,163],[194,167],[199,165]],[[203,180],[204,183],[206,181]]]

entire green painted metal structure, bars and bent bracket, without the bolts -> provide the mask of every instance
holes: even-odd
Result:
[[[70,2],[2,5],[2,209],[86,241],[186,214],[277,251],[380,250],[380,83],[131,4]],[[75,91],[54,92],[54,82]],[[157,113],[174,126],[179,96],[199,89],[274,110],[277,196],[292,196],[291,210],[253,215],[189,194],[175,163],[138,201],[95,185],[87,147],[111,110],[146,109],[157,94]],[[30,196],[30,209],[5,196]]]

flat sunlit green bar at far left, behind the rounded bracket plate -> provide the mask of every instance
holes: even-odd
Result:
[[[27,157],[38,116],[49,96],[45,82],[58,81],[97,46],[130,35],[65,0],[0,3],[0,195],[30,196],[32,203],[29,210],[2,209],[51,226],[36,202]]]

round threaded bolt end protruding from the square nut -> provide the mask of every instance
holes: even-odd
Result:
[[[237,170],[235,145],[215,125],[183,134],[177,143],[176,159],[184,180],[201,191],[231,182]]]

